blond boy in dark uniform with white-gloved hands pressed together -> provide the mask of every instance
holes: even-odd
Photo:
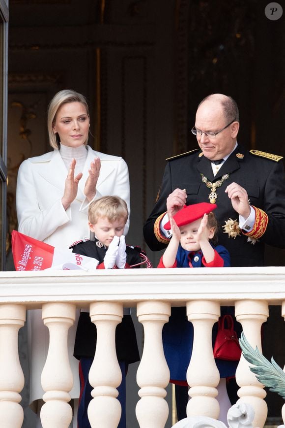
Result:
[[[95,200],[89,206],[88,224],[95,234],[95,240],[83,240],[71,245],[72,251],[99,260],[97,269],[140,267],[140,249],[126,246],[124,227],[128,219],[125,201],[115,196]],[[126,314],[125,314],[126,312]],[[122,414],[119,428],[126,428],[125,376],[128,364],[140,360],[136,332],[129,308],[124,309],[122,322],[116,328],[116,353],[122,371],[122,383],[118,387],[118,400]],[[88,374],[96,349],[96,326],[91,322],[89,312],[81,312],[76,331],[74,357],[80,360],[80,397],[78,428],[91,428],[87,407],[92,399],[92,387]]]

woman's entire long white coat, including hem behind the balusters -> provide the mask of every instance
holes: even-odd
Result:
[[[25,160],[19,168],[16,205],[18,230],[35,239],[44,241],[54,247],[67,250],[75,241],[90,236],[87,221],[88,201],[83,193],[88,177],[88,168],[95,157],[101,160],[101,169],[94,199],[102,196],[119,196],[127,203],[130,213],[130,185],[128,167],[117,156],[96,152],[87,146],[87,158],[83,177],[78,186],[76,199],[65,211],[61,198],[64,192],[67,168],[58,150],[42,156]],[[129,220],[124,234],[129,229]],[[70,250],[71,251],[71,250]],[[79,311],[77,311],[79,315]],[[29,367],[30,367],[30,403],[42,398],[44,391],[40,375],[47,357],[49,332],[43,325],[41,310],[29,311],[28,320]],[[78,361],[73,357],[73,347],[77,320],[68,332],[68,350],[74,386],[71,398],[79,397]]]

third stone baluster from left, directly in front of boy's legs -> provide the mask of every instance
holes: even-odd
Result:
[[[116,356],[115,330],[122,321],[123,306],[116,302],[93,302],[90,318],[97,328],[96,353],[89,371],[89,382],[94,388],[88,406],[92,428],[116,428],[121,417],[117,387],[122,374]]]

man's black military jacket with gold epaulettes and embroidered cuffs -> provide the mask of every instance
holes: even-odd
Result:
[[[221,187],[217,188],[218,198],[215,216],[219,222],[218,241],[225,246],[230,254],[231,266],[262,266],[264,265],[264,244],[285,248],[285,181],[283,162],[256,156],[244,150],[240,145],[221,166],[216,176],[213,175],[210,161],[193,151],[185,156],[173,158],[165,168],[163,181],[157,202],[147,219],[143,233],[144,239],[153,251],[167,245],[167,240],[159,239],[157,220],[166,212],[166,199],[176,189],[185,189],[186,204],[208,202],[209,189],[202,182],[201,173],[211,182],[221,180],[229,174]],[[239,221],[233,210],[225,189],[230,183],[237,183],[246,189],[250,204],[264,211],[268,222],[261,224],[262,232],[258,240],[248,242],[249,236],[240,232],[235,238],[229,237],[222,228],[229,219]],[[258,211],[259,213],[259,211]],[[156,227],[156,228],[155,228]],[[253,245],[252,242],[255,242]]]

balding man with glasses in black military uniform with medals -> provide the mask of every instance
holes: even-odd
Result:
[[[153,251],[171,237],[163,225],[184,204],[216,203],[219,244],[231,266],[264,265],[264,244],[285,248],[285,183],[282,157],[237,144],[238,108],[213,94],[199,104],[195,128],[199,149],[169,159],[144,239]],[[215,165],[217,164],[217,165]]]

